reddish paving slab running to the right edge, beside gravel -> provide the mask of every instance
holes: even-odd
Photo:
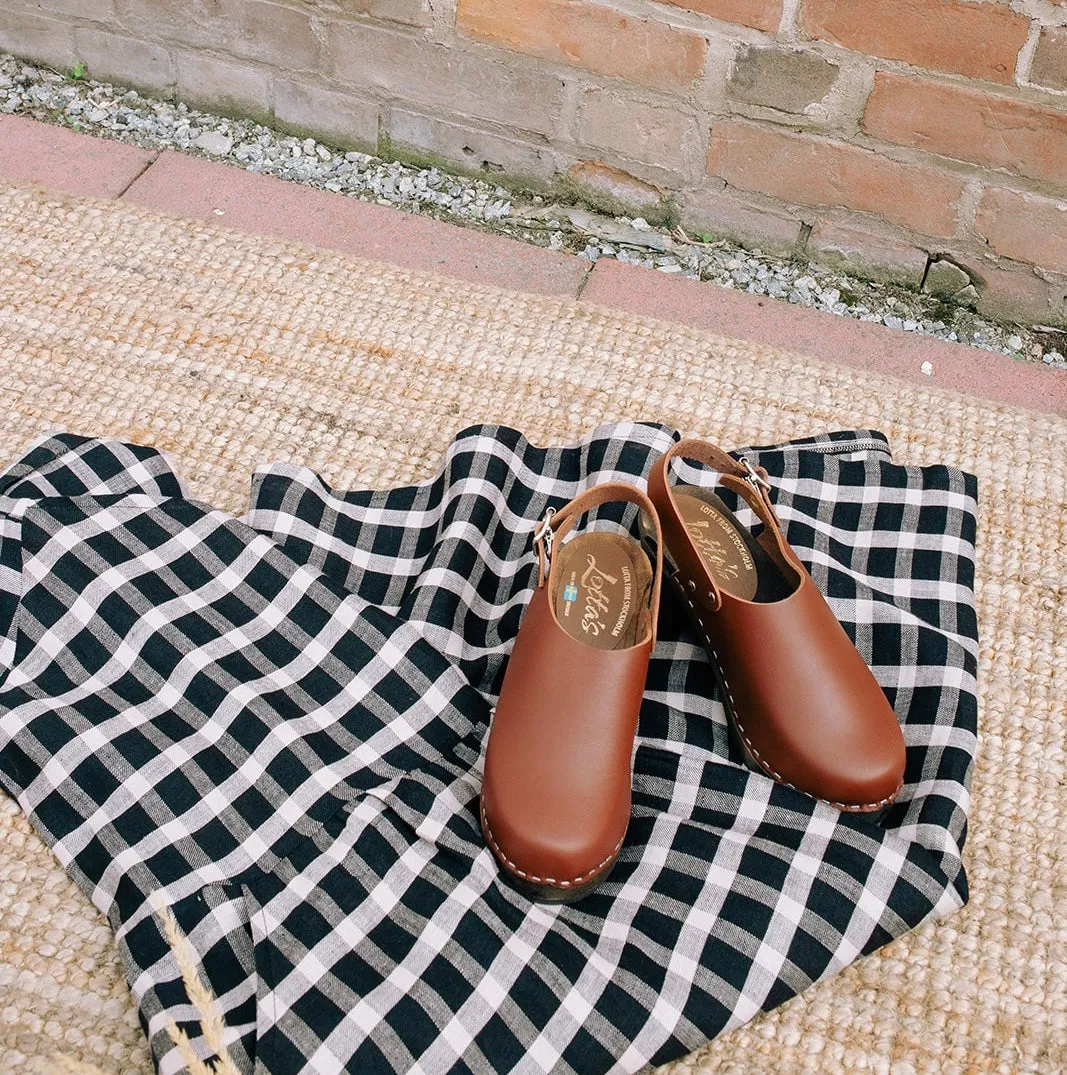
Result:
[[[654,269],[602,259],[581,300],[1032,411],[1067,414],[1067,371]],[[928,375],[924,362],[933,369]]]

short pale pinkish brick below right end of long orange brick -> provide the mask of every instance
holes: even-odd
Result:
[[[677,108],[631,101],[610,90],[589,90],[581,100],[578,139],[630,160],[680,171],[683,147],[695,139],[693,117]]]

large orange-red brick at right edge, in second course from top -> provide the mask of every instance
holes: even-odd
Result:
[[[880,71],[863,129],[897,145],[1067,184],[1067,113],[999,94]]]

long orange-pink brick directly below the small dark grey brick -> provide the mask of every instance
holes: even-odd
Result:
[[[939,169],[736,119],[711,129],[708,173],[794,204],[877,213],[927,235],[954,233],[963,195],[963,182]]]

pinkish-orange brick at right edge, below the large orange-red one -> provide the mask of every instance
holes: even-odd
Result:
[[[975,231],[997,254],[1067,272],[1067,199],[991,187],[978,206]]]

